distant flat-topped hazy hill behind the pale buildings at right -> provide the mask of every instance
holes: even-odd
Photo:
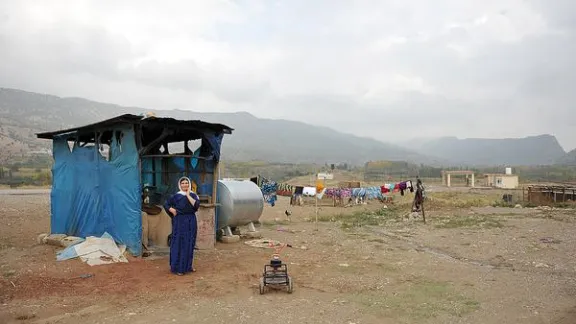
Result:
[[[470,166],[550,165],[566,155],[552,135],[483,139],[414,139],[404,145],[419,153]]]

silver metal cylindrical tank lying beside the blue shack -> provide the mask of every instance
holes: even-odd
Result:
[[[257,222],[264,210],[264,197],[252,181],[218,180],[216,227],[237,227]]]

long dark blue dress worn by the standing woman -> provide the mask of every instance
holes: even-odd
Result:
[[[194,247],[196,246],[196,212],[200,207],[200,199],[195,193],[191,196],[196,203],[190,204],[188,198],[177,193],[164,203],[164,209],[172,218],[172,238],[170,240],[170,271],[173,273],[188,273],[192,271]],[[170,214],[170,207],[176,209],[176,216]]]

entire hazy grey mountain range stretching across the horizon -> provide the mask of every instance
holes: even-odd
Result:
[[[35,133],[81,126],[120,114],[143,114],[177,119],[200,119],[234,128],[222,146],[223,159],[284,163],[348,163],[394,160],[427,165],[548,165],[576,164],[576,152],[566,153],[552,135],[508,139],[412,140],[391,144],[298,121],[257,118],[246,112],[206,113],[152,110],[61,98],[0,88],[0,161],[51,146]]]

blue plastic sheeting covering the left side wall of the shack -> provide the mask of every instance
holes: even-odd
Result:
[[[117,132],[118,131],[118,132]],[[121,133],[120,133],[121,132]],[[108,232],[133,255],[142,250],[138,150],[131,126],[118,127],[110,161],[94,146],[70,149],[65,134],[53,140],[51,232],[80,237]]]

